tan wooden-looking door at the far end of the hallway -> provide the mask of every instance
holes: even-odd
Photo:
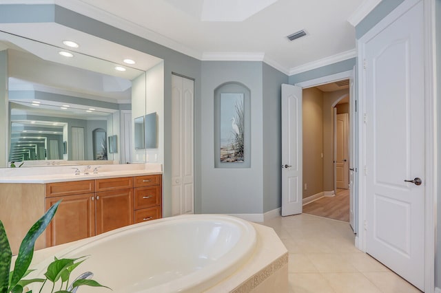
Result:
[[[347,189],[349,187],[349,168],[347,152],[347,113],[336,115],[336,186]]]

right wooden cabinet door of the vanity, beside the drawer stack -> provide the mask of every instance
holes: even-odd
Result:
[[[133,224],[133,188],[96,193],[96,235]]]

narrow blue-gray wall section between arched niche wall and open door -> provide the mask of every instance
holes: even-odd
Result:
[[[288,76],[263,63],[263,213],[282,206],[283,83]]]

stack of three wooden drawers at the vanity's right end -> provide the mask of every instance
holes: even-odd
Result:
[[[162,217],[162,176],[134,177],[134,222]]]

